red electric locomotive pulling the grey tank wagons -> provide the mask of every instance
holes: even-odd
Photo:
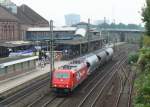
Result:
[[[56,91],[72,91],[88,76],[84,61],[74,60],[53,72],[52,87]]]

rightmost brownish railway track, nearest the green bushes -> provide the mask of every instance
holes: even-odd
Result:
[[[129,50],[131,51],[133,47],[131,47]],[[128,53],[128,52],[127,52]],[[108,99],[103,97],[103,99],[108,100],[104,101],[103,107],[130,107],[131,106],[131,100],[132,100],[132,89],[133,89],[133,83],[134,83],[134,72],[127,72],[127,64],[125,63],[122,65],[118,72],[118,78],[120,84],[117,86],[119,91],[114,92],[114,94]],[[122,75],[121,75],[122,73]]]

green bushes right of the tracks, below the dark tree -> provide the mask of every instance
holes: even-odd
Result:
[[[135,107],[150,107],[150,47],[140,49],[138,63],[143,67],[135,81]]]

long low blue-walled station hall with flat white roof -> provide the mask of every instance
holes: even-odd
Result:
[[[54,27],[54,39],[75,39],[74,36],[76,27]],[[28,41],[42,41],[50,39],[49,27],[30,27],[26,32],[26,40]]]

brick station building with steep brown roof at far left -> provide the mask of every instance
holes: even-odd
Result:
[[[0,2],[0,41],[24,40],[28,27],[46,27],[49,23],[27,5],[16,6],[10,0]]]

